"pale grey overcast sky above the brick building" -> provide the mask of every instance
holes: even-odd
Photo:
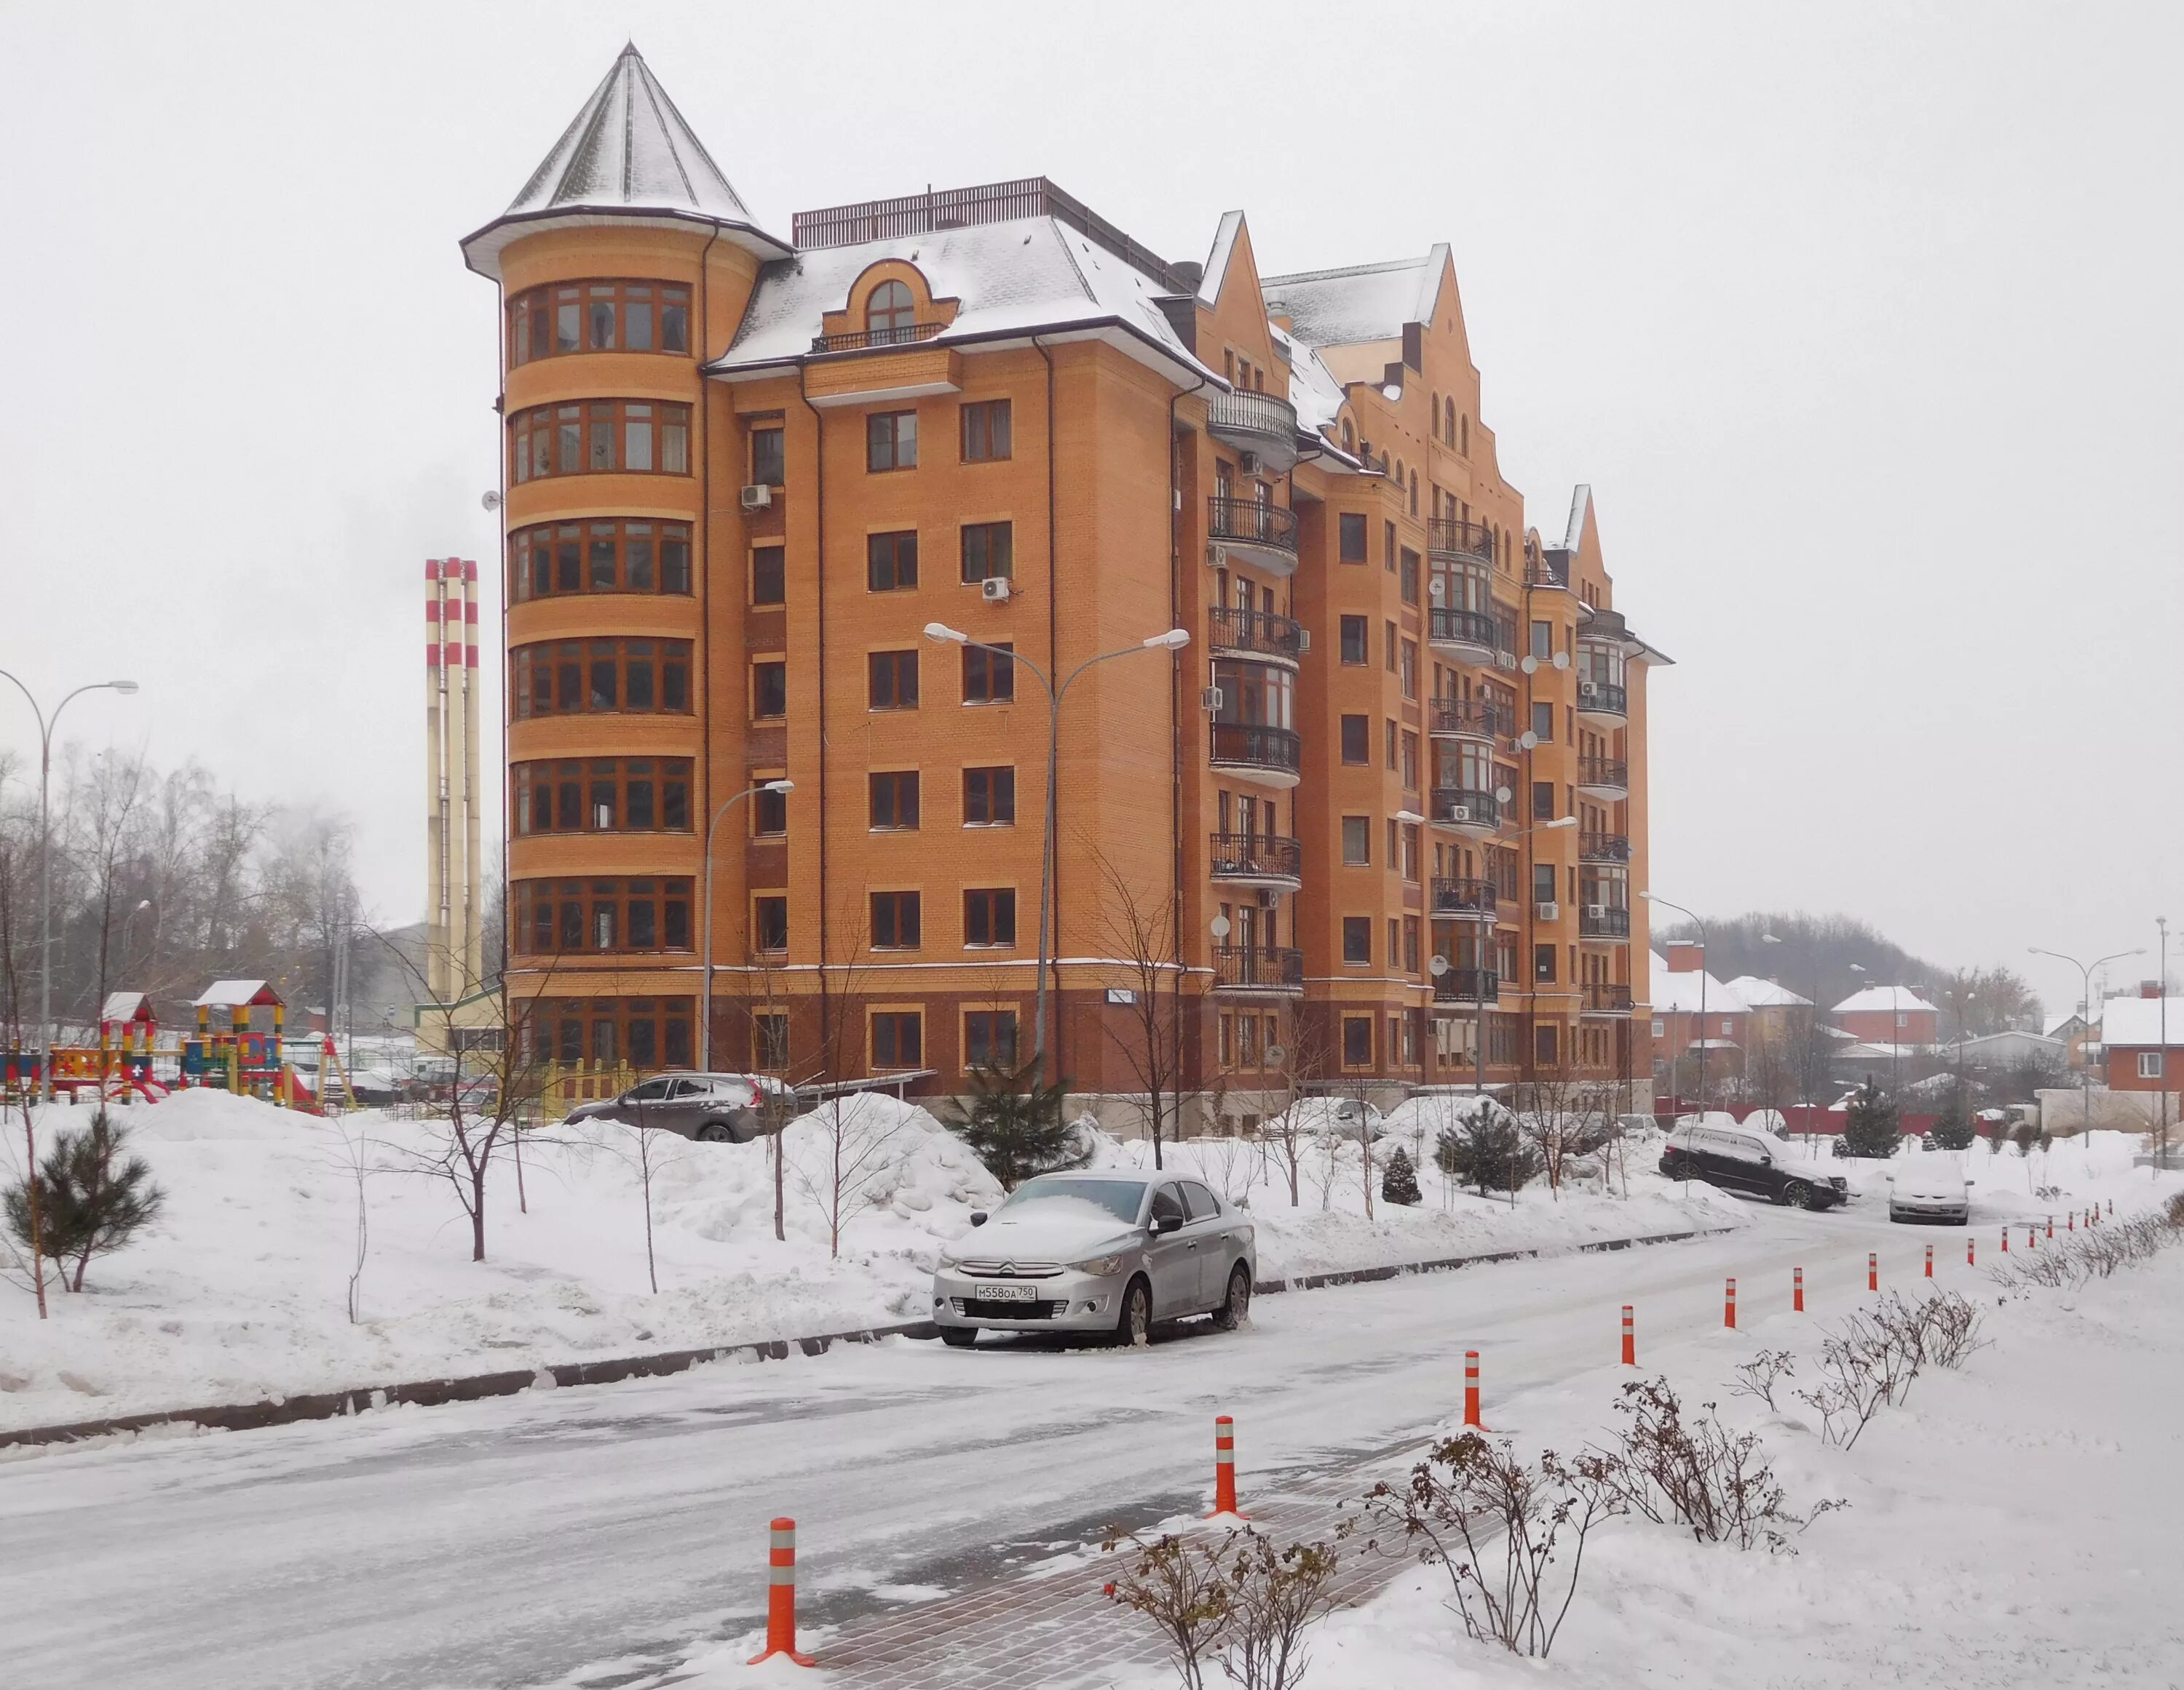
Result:
[[[144,686],[63,738],[347,810],[422,913],[422,561],[498,535],[454,242],[625,35],[769,229],[1044,172],[1171,258],[1452,242],[1529,520],[1592,483],[1677,659],[1662,895],[2051,1007],[2027,945],[2184,917],[2175,4],[9,0],[0,668]]]

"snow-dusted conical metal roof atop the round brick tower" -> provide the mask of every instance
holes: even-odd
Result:
[[[500,251],[511,240],[542,227],[627,218],[686,221],[719,229],[762,258],[788,253],[788,242],[751,221],[751,210],[633,44],[622,48],[509,210],[463,240],[463,258],[480,275],[498,277]]]

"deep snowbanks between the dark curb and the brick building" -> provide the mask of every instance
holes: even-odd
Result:
[[[85,1118],[44,1114],[46,1129]],[[168,1192],[166,1214],[96,1260],[81,1295],[50,1288],[50,1321],[37,1321],[24,1286],[0,1282],[0,1428],[922,1319],[939,1242],[1000,1190],[922,1109],[871,1096],[845,1114],[839,1258],[823,1118],[791,1127],[786,1240],[773,1238],[764,1146],[655,1133],[653,1293],[625,1129],[550,1129],[529,1144],[522,1205],[513,1162],[496,1166],[478,1264],[454,1190],[426,1170],[435,1129],[422,1122],[325,1122],[218,1092],[131,1109],[133,1146]],[[1378,1159],[1409,1142],[1398,1133],[1376,1149],[1376,1188]],[[371,1168],[354,1323],[352,1144]],[[0,1140],[0,1177],[11,1177],[9,1153],[20,1159],[20,1140]],[[1144,1162],[1149,1146],[1105,1140],[1101,1155]],[[1369,1218],[1356,1142],[1306,1146],[1297,1207],[1262,1146],[1192,1142],[1168,1146],[1166,1159],[1249,1205],[1267,1277],[1686,1231],[1745,1212],[1662,1181],[1649,1151],[1631,1153],[1612,1197],[1533,1188],[1514,1205],[1483,1201],[1446,1190],[1428,1168],[1424,1203],[1376,1197]]]

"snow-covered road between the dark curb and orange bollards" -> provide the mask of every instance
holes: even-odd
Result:
[[[1487,1421],[1649,1336],[1909,1286],[1963,1231],[1883,1205],[1793,1214],[1649,1249],[1267,1297],[1241,1334],[1151,1352],[895,1341],[788,1362],[0,1465],[9,1677],[39,1686],[542,1686],[629,1677],[760,1611],[764,1522],[799,1522],[806,1614],[839,1622],[1158,1520],[1238,1472],[1396,1445],[1485,1356]],[[1981,1229],[1981,1249],[1992,1227]],[[587,1683],[625,1681],[622,1675]]]

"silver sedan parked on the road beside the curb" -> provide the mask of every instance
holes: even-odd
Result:
[[[1026,1179],[941,1249],[933,1323],[950,1345],[981,1332],[1079,1332],[1144,1343],[1155,1321],[1251,1310],[1251,1223],[1197,1179],[1055,1173]]]

